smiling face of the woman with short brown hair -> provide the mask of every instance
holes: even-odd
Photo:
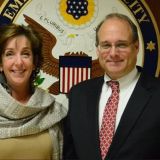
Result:
[[[24,35],[7,41],[1,68],[11,88],[29,86],[30,76],[35,66],[31,43]]]

